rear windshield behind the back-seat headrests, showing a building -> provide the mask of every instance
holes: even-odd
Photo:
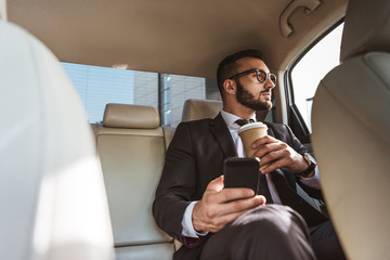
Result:
[[[107,103],[156,107],[161,125],[176,127],[181,121],[187,99],[216,99],[214,80],[91,65],[61,63],[78,91],[92,123],[103,120]]]

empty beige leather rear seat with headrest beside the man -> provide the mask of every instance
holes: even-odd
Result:
[[[154,107],[107,104],[98,129],[116,259],[172,259],[172,238],[152,216],[165,160],[165,139]]]

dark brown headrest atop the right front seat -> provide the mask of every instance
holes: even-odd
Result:
[[[390,1],[350,0],[340,60],[372,51],[390,52]]]

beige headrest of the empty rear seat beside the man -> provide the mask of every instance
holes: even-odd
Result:
[[[104,127],[155,129],[159,123],[159,114],[153,106],[107,104],[104,110]]]

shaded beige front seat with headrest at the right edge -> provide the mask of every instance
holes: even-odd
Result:
[[[342,64],[313,102],[313,147],[349,259],[390,256],[390,1],[351,0]]]

